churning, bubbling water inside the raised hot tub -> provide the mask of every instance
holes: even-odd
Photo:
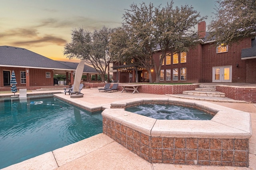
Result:
[[[125,110],[154,119],[166,120],[211,120],[213,117],[198,109],[176,105],[138,105]]]

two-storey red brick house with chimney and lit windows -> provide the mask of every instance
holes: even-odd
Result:
[[[166,53],[161,67],[161,83],[256,83],[255,35],[232,45],[216,47],[216,41],[207,39],[209,33],[206,32],[205,22],[198,24],[198,32],[201,38],[197,47],[182,53]],[[160,55],[161,51],[154,54],[158,64]],[[154,69],[151,71],[155,82]],[[149,79],[148,71],[134,64],[119,65],[114,62],[111,72],[113,78],[121,83]]]

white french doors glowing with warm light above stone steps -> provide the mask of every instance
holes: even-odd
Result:
[[[212,82],[232,82],[232,65],[212,67]]]

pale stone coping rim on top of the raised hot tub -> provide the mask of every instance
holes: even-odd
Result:
[[[124,110],[124,108],[133,105],[155,102],[200,107],[208,109],[216,115],[208,121],[158,120]],[[175,98],[135,98],[111,103],[111,108],[118,107],[123,109],[105,109],[102,116],[152,137],[248,139],[252,136],[250,113],[205,101]]]

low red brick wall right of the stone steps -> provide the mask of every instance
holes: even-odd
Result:
[[[216,85],[216,91],[225,93],[226,97],[234,100],[256,103],[256,87]]]

